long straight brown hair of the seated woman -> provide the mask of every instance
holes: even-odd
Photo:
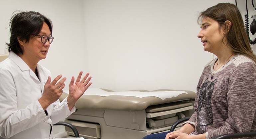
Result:
[[[243,18],[237,6],[231,3],[219,3],[201,12],[197,23],[201,24],[202,19],[210,18],[219,24],[219,29],[225,27],[226,33],[222,39],[231,51],[235,54],[242,54],[251,58],[256,63],[256,56],[252,52],[247,38]],[[231,24],[226,23],[230,21]],[[224,41],[225,40],[225,41]]]

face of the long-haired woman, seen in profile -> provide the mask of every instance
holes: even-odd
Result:
[[[224,28],[217,21],[206,17],[202,19],[197,37],[201,39],[204,51],[214,53],[223,45]]]

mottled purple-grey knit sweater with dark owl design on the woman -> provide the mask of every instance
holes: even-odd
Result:
[[[194,135],[214,136],[256,131],[256,66],[243,55],[234,56],[217,70],[208,63],[197,85],[194,109],[188,123]],[[256,137],[254,137],[256,139]]]

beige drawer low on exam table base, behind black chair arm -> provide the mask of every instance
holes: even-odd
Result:
[[[97,123],[87,123],[83,121],[73,121],[73,120],[65,120],[65,122],[73,124],[76,127],[80,137],[92,138],[92,139],[101,138],[100,125]],[[68,135],[74,136],[74,133],[70,128],[65,127],[65,130]]]

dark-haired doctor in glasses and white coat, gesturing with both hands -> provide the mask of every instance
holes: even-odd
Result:
[[[66,78],[53,80],[39,65],[53,42],[52,22],[38,12],[20,12],[10,21],[9,57],[0,63],[0,139],[53,139],[53,124],[75,111],[75,102],[91,85],[89,73],[72,76],[62,102]],[[62,78],[62,79],[61,79]]]

